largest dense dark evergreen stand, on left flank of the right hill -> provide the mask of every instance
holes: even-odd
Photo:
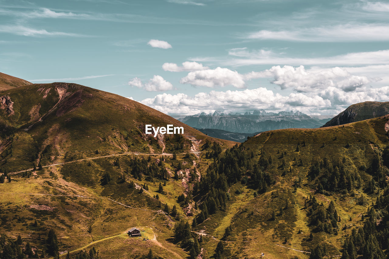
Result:
[[[214,147],[218,150],[217,144]],[[267,157],[265,152],[256,160],[252,152],[247,152],[238,145],[217,155],[217,158],[214,157],[214,162],[208,167],[206,174],[202,175],[200,182],[193,184],[193,196],[207,194],[199,206],[201,213],[196,222],[200,224],[218,209],[226,209],[226,202],[230,199],[228,189],[238,181],[258,189],[258,193],[264,193],[268,186],[275,183],[270,174],[263,171],[271,163],[271,156]]]

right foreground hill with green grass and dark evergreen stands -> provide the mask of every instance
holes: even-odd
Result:
[[[229,242],[223,252],[215,250],[216,258],[238,257],[239,250],[252,251],[251,246],[266,242],[299,244],[312,259],[386,258],[382,251],[389,246],[388,130],[389,115],[251,137],[219,155],[195,185],[195,199],[207,193],[195,229],[219,229],[212,218],[225,215],[225,201],[235,196],[231,190],[238,184],[234,194],[249,188],[254,198],[240,203],[224,225],[219,236]]]

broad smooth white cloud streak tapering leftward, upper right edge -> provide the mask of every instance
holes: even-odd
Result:
[[[340,24],[289,31],[261,30],[246,38],[297,42],[365,42],[389,40],[387,24]]]

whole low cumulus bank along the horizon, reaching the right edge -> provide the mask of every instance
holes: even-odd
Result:
[[[291,93],[282,95],[266,88],[200,92],[195,96],[179,94],[158,94],[141,103],[167,114],[193,115],[214,110],[268,111],[299,110],[307,114],[334,115],[347,106],[363,101],[387,101],[389,87],[358,89],[345,92],[336,87],[327,87],[316,93]]]

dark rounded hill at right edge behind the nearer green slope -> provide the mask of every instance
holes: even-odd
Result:
[[[351,122],[359,122],[384,116],[389,113],[389,102],[364,102],[349,106],[334,118],[329,120],[323,127],[343,125]]]

